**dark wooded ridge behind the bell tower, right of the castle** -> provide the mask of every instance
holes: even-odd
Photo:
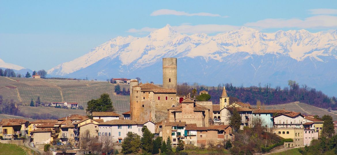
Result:
[[[183,86],[189,87],[191,94],[193,94],[193,89],[196,89],[197,92],[207,90],[211,95],[210,100],[213,101],[213,104],[219,104],[219,97],[221,96],[223,86],[225,86],[227,95],[231,97],[230,102],[239,100],[244,103],[256,105],[256,102],[259,100],[265,105],[275,105],[299,101],[316,107],[337,110],[336,97],[329,97],[323,92],[309,88],[306,85],[300,86],[295,81],[289,81],[288,84],[289,87],[283,89],[279,86],[271,88],[270,84],[251,87],[235,87],[228,83],[219,84],[218,87],[188,86],[181,84],[178,86],[178,94],[184,92],[184,89],[181,88]]]

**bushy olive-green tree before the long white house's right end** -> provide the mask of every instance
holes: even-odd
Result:
[[[122,142],[122,153],[131,154],[137,153],[141,148],[141,138],[139,135],[134,133],[127,133],[126,137]]]

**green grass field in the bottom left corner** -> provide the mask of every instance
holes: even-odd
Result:
[[[20,145],[13,145],[13,144],[3,144],[0,143],[0,155],[31,155],[32,150],[20,146]],[[37,154],[34,152],[34,154]]]

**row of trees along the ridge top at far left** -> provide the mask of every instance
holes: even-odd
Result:
[[[40,78],[47,78],[47,71],[45,71],[44,69],[41,69],[39,71],[33,71],[32,75],[40,75]],[[11,77],[11,78],[30,78],[32,77],[32,75],[27,71],[27,73],[24,75],[22,75],[21,73],[15,73],[15,71],[13,69],[2,69],[0,68],[0,76],[7,76],[7,77]]]

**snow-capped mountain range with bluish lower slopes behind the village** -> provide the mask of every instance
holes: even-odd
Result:
[[[48,73],[101,80],[139,76],[161,83],[163,57],[178,58],[178,82],[286,86],[296,80],[320,89],[337,86],[337,31],[262,33],[242,27],[208,36],[180,34],[166,25],[146,37],[111,39]]]

